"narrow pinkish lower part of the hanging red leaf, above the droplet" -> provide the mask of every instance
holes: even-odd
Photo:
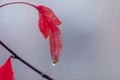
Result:
[[[62,52],[62,39],[61,32],[58,27],[55,27],[56,31],[50,34],[50,52],[53,59],[53,63],[56,64],[59,60],[60,54]]]

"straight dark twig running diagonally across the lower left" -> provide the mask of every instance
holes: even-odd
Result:
[[[24,63],[25,65],[27,65],[29,68],[31,68],[32,70],[34,70],[35,72],[37,72],[39,75],[41,75],[43,78],[47,79],[47,80],[54,80],[53,78],[51,78],[50,76],[48,76],[47,74],[43,73],[42,71],[36,69],[35,67],[33,67],[31,64],[29,64],[28,62],[26,62],[24,59],[22,59],[20,56],[18,56],[15,52],[13,52],[8,46],[6,46],[1,40],[0,40],[0,44],[7,50],[9,51],[16,59],[18,59],[19,61],[21,61],[22,63]]]

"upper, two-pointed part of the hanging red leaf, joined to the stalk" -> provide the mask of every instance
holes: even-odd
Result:
[[[39,11],[39,29],[46,39],[51,33],[50,24],[60,25],[61,21],[50,8],[45,6],[37,6],[36,8]]]

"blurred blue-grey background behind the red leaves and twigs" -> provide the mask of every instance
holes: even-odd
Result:
[[[52,66],[38,11],[15,4],[0,8],[0,40],[55,80],[120,80],[120,0],[1,0],[46,5],[62,20],[63,53]],[[0,46],[0,65],[10,53]],[[45,80],[13,59],[16,80]]]

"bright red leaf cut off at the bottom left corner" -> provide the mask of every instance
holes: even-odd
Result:
[[[0,68],[0,80],[15,80],[11,64],[11,57]]]

